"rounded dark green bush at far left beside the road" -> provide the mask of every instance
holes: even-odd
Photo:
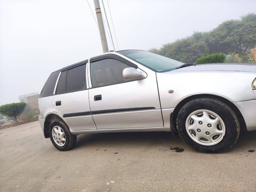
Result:
[[[0,113],[4,116],[14,117],[16,122],[18,122],[17,116],[22,113],[22,111],[25,109],[26,105],[27,104],[25,102],[1,105]]]

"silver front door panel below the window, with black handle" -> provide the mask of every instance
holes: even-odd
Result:
[[[156,75],[151,70],[146,73],[147,77],[142,80],[89,89],[92,112],[123,109],[118,113],[92,113],[97,129],[163,127]],[[90,77],[90,73],[88,76]],[[95,95],[102,95],[102,100],[95,101]],[[138,110],[126,111],[128,108]]]

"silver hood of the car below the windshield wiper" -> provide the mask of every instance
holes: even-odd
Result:
[[[256,72],[256,65],[249,63],[211,63],[211,64],[199,64],[195,66],[189,66],[173,70],[177,71],[244,71],[244,72]]]

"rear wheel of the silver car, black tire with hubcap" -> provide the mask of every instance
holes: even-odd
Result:
[[[54,147],[60,151],[67,151],[76,144],[77,136],[70,133],[69,127],[61,119],[51,121],[49,134]]]

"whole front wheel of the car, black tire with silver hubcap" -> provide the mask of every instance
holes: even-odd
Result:
[[[227,151],[235,145],[240,133],[235,112],[226,103],[213,98],[187,102],[178,112],[176,123],[182,140],[202,152]]]

